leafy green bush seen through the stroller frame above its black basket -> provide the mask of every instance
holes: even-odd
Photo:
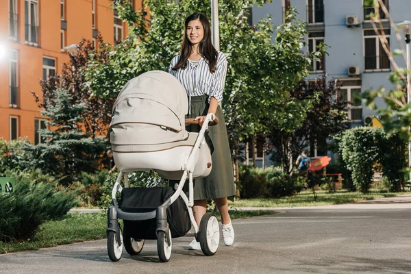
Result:
[[[119,171],[114,171],[113,173],[108,173],[105,176],[105,181],[103,185],[103,195],[97,202],[97,205],[102,209],[107,209],[112,206],[112,188],[116,183],[116,179],[119,176]],[[168,181],[162,179],[155,171],[151,170],[149,172],[138,171],[128,174],[129,186],[134,187],[148,187],[152,188],[154,186],[167,186]],[[121,186],[124,187],[124,178],[122,178]],[[118,194],[119,192],[117,192]],[[117,199],[117,198],[116,198]]]

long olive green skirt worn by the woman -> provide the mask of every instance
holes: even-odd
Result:
[[[186,118],[207,115],[207,112],[207,95],[191,97],[191,114],[187,115]],[[225,127],[223,111],[220,106],[216,110],[216,116],[219,118],[219,124],[210,126],[208,133],[206,133],[206,141],[211,150],[212,169],[210,175],[207,177],[194,180],[195,200],[232,197],[236,195],[227,129]],[[188,132],[200,131],[199,125],[186,125],[186,129]]]

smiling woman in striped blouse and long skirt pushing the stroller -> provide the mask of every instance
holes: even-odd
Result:
[[[223,241],[234,242],[234,229],[228,214],[227,197],[234,196],[234,175],[227,138],[227,129],[219,102],[223,99],[227,59],[216,51],[211,43],[208,18],[201,13],[186,18],[184,39],[180,55],[171,61],[169,73],[182,83],[189,98],[188,118],[195,118],[199,125],[188,125],[188,131],[199,132],[206,115],[210,112],[219,118],[219,124],[210,127],[209,144],[212,151],[212,171],[208,177],[195,180],[195,221],[200,225],[206,214],[207,199],[214,199],[221,213]],[[201,249],[199,242],[192,240],[188,249]]]

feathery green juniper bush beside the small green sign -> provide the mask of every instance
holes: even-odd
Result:
[[[7,172],[14,177],[14,192],[0,195],[0,240],[27,240],[48,219],[58,219],[77,201],[75,192],[56,190],[53,177],[31,173]]]

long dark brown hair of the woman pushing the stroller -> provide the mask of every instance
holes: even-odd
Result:
[[[208,62],[208,67],[210,68],[210,72],[214,73],[217,69],[217,59],[219,58],[219,53],[217,53],[216,49],[212,46],[211,43],[211,28],[210,28],[210,22],[208,21],[208,18],[206,15],[195,12],[188,16],[186,18],[186,21],[184,23],[184,37],[183,37],[183,42],[182,42],[182,51],[180,52],[180,57],[173,66],[173,70],[177,71],[178,69],[186,69],[187,66],[187,60],[188,56],[190,56],[192,45],[190,40],[188,40],[187,37],[187,27],[188,23],[193,20],[199,19],[201,24],[203,24],[203,29],[204,29],[204,37],[203,40],[201,40],[200,45],[199,45],[199,53],[201,56],[203,56],[204,59]]]

